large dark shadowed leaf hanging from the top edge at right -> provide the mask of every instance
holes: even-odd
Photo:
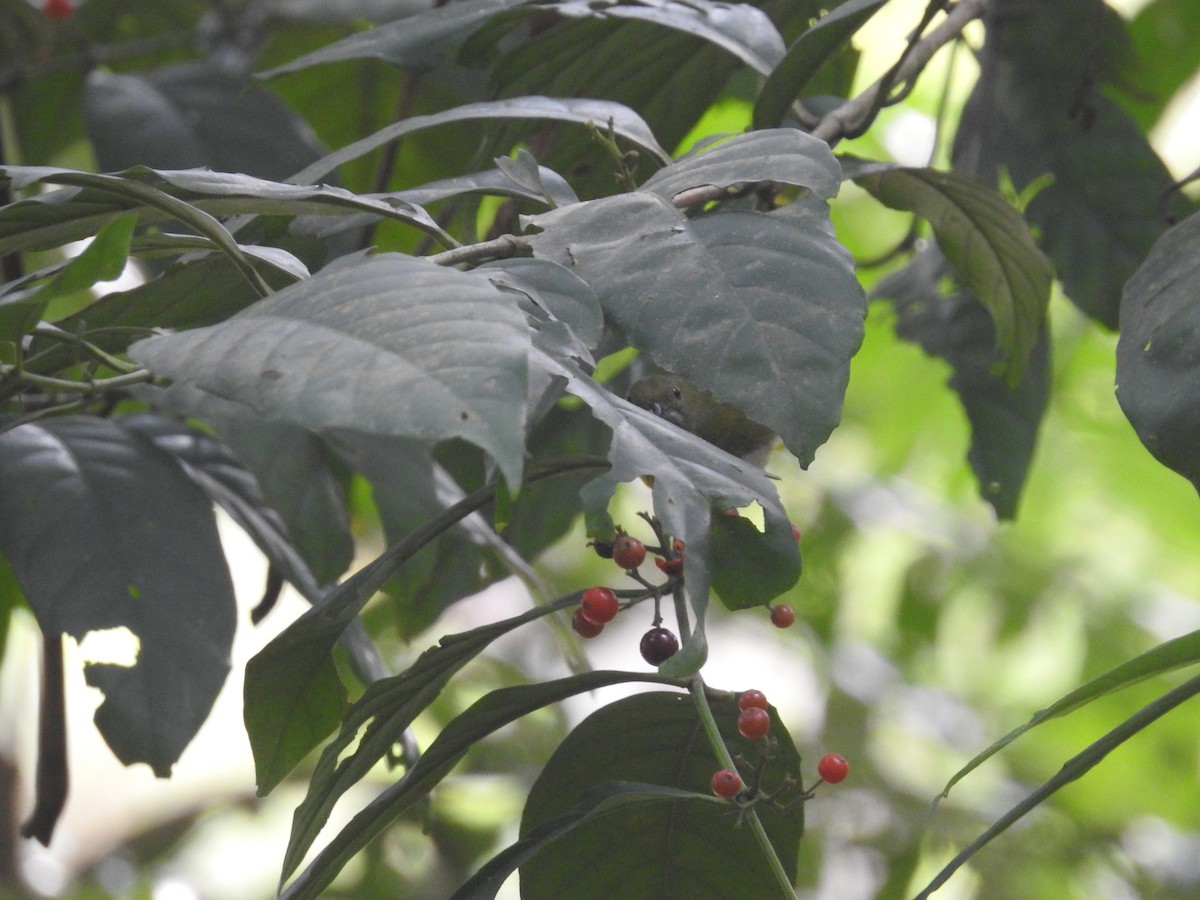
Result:
[[[1116,328],[1121,286],[1166,229],[1172,181],[1133,120],[1094,90],[1116,65],[1120,17],[1100,0],[1002,0],[986,22],[954,166],[992,184],[1003,170],[1018,190],[1052,175],[1026,217],[1070,300]],[[1189,211],[1181,197],[1170,206]]]

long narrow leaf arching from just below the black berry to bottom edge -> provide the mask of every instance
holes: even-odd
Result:
[[[438,734],[428,750],[396,784],[366,805],[336,834],[286,890],[281,900],[317,898],[342,866],[389,823],[424,799],[479,740],[523,715],[610,684],[653,682],[679,684],[656,674],[587,672],[540,684],[502,688],[478,700]]]

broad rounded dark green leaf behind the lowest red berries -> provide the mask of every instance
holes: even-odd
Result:
[[[736,697],[727,695],[710,706],[731,755],[758,760],[762,744],[738,733]],[[778,716],[772,719],[778,745],[762,774],[767,791],[776,790],[785,776],[800,778],[791,737]],[[748,763],[744,778],[752,766]],[[691,697],[658,691],[619,700],[581,722],[546,763],[526,802],[521,834],[528,836],[569,815],[605,782],[637,781],[708,794],[718,768]],[[547,844],[521,866],[522,898],[656,896],[662,884],[671,886],[671,896],[696,900],[778,895],[778,882],[751,829],[737,827],[728,804],[702,798],[662,800],[652,806],[619,804]],[[794,881],[804,804],[787,811],[760,804],[756,810],[784,871]],[[596,848],[608,846],[623,848],[622,863],[598,869]],[[731,859],[737,865],[730,865]],[[583,870],[595,877],[581,878]]]

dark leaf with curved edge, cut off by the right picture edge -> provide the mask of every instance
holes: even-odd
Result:
[[[1117,401],[1154,458],[1200,491],[1200,214],[1164,234],[1126,284]]]

